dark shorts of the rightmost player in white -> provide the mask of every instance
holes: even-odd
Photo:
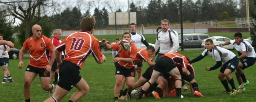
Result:
[[[240,60],[240,62],[243,64],[242,70],[244,70],[247,67],[252,66],[255,63],[256,58],[252,57],[244,57]]]

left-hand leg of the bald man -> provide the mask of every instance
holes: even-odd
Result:
[[[30,102],[29,101],[30,100],[30,85],[31,85],[32,81],[35,79],[35,76],[37,76],[36,73],[30,72],[30,71],[25,71],[23,94],[24,94],[26,102]]]

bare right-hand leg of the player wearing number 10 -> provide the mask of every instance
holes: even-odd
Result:
[[[80,98],[86,95],[89,91],[89,86],[87,85],[86,81],[82,78],[75,87],[78,89],[76,92],[71,96],[69,100],[73,102],[77,102]]]

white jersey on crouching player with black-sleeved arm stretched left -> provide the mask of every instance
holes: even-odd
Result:
[[[208,51],[207,49],[203,51],[202,56],[206,55],[210,55],[217,62],[222,61],[223,63],[226,63],[227,61],[233,59],[236,56],[233,52],[215,45],[213,46],[211,51]]]

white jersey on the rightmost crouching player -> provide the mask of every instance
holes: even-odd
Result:
[[[252,58],[256,57],[254,48],[246,40],[241,40],[241,43],[239,45],[236,44],[235,40],[230,40],[229,42],[234,45],[235,49],[238,52],[242,53],[243,51],[246,51],[246,57],[252,57]]]

